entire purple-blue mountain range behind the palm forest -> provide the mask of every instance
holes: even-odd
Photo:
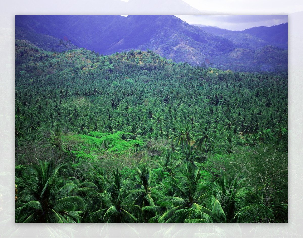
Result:
[[[224,70],[274,70],[277,66],[287,70],[286,49],[279,47],[284,41],[270,42],[272,38],[266,38],[262,29],[236,34],[218,28],[215,31],[173,15],[22,15],[16,16],[15,22],[16,39],[31,41],[45,50],[56,51],[46,39],[52,36],[59,45],[68,41],[100,54],[149,49],[177,62]],[[258,57],[268,45],[272,46],[270,63]]]

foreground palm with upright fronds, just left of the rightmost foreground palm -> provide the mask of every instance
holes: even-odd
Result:
[[[157,204],[165,208],[152,222],[211,222],[211,210],[202,206],[203,190],[201,168],[187,163],[174,177],[167,178],[153,190]],[[158,208],[157,208],[158,209]],[[159,209],[158,209],[159,210]]]

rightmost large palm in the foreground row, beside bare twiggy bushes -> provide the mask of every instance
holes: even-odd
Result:
[[[208,207],[211,207],[215,222],[258,222],[272,215],[272,211],[261,203],[258,195],[244,184],[244,176],[221,177],[208,187]]]

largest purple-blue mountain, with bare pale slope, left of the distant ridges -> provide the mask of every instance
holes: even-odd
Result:
[[[234,49],[231,41],[171,15],[16,16],[16,32],[19,28],[67,38],[78,47],[100,54],[149,48],[163,57],[193,64]],[[16,34],[16,39],[21,39],[20,35]]]

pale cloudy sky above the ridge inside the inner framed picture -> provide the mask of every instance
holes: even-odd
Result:
[[[188,24],[215,26],[233,31],[288,22],[287,15],[176,15],[176,17]]]

